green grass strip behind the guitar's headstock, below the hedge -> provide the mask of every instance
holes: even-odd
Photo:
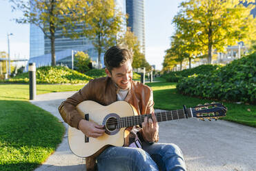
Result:
[[[197,99],[177,93],[176,83],[147,83],[154,91],[155,108],[164,110],[182,109],[183,105],[187,108],[194,107],[198,104],[211,103],[213,101],[207,99]],[[215,101],[221,102],[221,101]],[[242,123],[256,128],[256,106],[236,103],[223,104],[228,108],[226,117],[222,118],[226,121]]]

